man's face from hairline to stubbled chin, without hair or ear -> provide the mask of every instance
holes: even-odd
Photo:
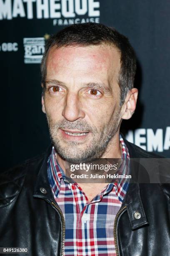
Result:
[[[119,130],[120,53],[115,47],[53,47],[47,57],[42,110],[66,161],[99,158]]]

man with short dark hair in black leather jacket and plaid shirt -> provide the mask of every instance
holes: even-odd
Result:
[[[66,162],[158,157],[120,135],[136,107],[135,63],[128,39],[101,24],[50,37],[41,73],[52,146],[1,179],[1,247],[35,256],[170,255],[168,185],[77,183],[65,171]]]

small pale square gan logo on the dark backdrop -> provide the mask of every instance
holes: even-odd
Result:
[[[42,55],[45,51],[45,38],[23,38],[25,55],[24,63],[41,63]]]

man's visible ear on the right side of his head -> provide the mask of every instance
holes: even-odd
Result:
[[[135,112],[138,98],[138,89],[133,88],[128,92],[125,102],[122,105],[122,119],[130,119]]]

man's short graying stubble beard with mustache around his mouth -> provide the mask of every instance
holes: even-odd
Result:
[[[105,152],[109,141],[113,136],[115,136],[118,128],[120,127],[119,114],[120,110],[115,113],[115,116],[110,120],[110,123],[101,125],[99,131],[97,131],[95,127],[88,125],[85,120],[77,120],[75,122],[62,120],[52,124],[50,118],[47,118],[50,138],[53,146],[55,147],[55,151],[62,159],[74,164],[85,163],[100,158]],[[90,142],[90,145],[86,146],[83,150],[78,147],[78,143],[76,141],[68,141],[67,146],[63,147],[57,135],[59,128],[80,130],[82,132],[90,131],[92,134],[92,141]]]

